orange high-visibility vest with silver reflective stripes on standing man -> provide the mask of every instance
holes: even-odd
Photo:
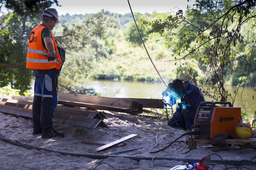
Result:
[[[46,26],[44,25],[38,25],[34,27],[34,29],[31,32],[26,68],[46,70],[46,69],[52,69],[52,68],[60,69],[61,67],[60,54],[58,52],[57,45],[51,30],[50,32],[53,39],[55,60],[48,61],[48,57],[45,57],[45,55],[50,54],[50,52],[43,47],[42,40],[41,40],[42,29],[44,29],[45,27]]]

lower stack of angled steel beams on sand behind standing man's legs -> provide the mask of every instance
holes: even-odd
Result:
[[[32,118],[32,102],[0,98],[0,112]],[[106,117],[98,111],[59,105],[56,107],[53,116],[54,122],[87,128],[107,128],[103,119],[106,119]]]

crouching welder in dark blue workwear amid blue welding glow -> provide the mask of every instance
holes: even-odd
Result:
[[[181,79],[174,79],[162,93],[163,99],[170,105],[177,105],[176,111],[168,121],[169,126],[191,128],[194,124],[196,109],[204,102],[200,89]]]

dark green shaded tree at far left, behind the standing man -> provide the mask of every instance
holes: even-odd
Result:
[[[0,0],[0,3],[11,10],[0,16],[0,86],[20,89],[22,95],[30,89],[32,79],[32,71],[26,69],[28,34],[40,22],[42,11],[53,3],[58,5],[58,1]]]

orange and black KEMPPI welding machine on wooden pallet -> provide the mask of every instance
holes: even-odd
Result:
[[[216,106],[228,104],[228,107]],[[201,102],[197,108],[194,124],[195,131],[200,131],[195,138],[211,139],[219,133],[230,133],[237,137],[235,124],[241,123],[241,108],[233,107],[230,102]]]

